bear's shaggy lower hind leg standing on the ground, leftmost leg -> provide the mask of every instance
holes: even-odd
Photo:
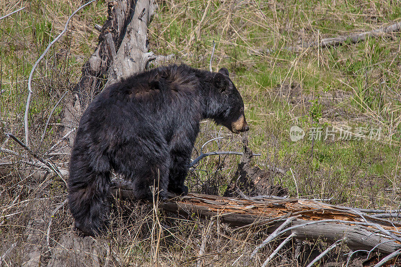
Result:
[[[68,203],[75,227],[84,235],[96,236],[108,226],[110,173],[80,167],[70,166]]]

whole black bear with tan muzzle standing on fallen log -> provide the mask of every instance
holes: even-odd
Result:
[[[150,186],[186,194],[184,179],[199,132],[210,118],[234,133],[248,131],[244,102],[227,69],[218,73],[171,65],[105,88],[79,122],[70,160],[68,201],[84,235],[106,230],[110,171],[132,182],[135,198]]]

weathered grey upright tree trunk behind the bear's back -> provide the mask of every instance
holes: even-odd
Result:
[[[120,77],[143,71],[149,60],[154,59],[148,53],[147,26],[155,10],[154,0],[108,3],[109,17],[101,29],[98,46],[82,67],[81,79],[64,106],[64,134],[78,126],[83,111],[106,82],[113,83]],[[74,137],[75,133],[68,136],[65,153],[71,150]]]

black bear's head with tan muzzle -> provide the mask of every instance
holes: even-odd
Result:
[[[244,114],[244,101],[229,78],[229,71],[226,68],[221,68],[215,74],[214,84],[221,96],[221,102],[218,103],[221,113],[214,118],[215,122],[226,126],[236,134],[248,131],[249,126]]]

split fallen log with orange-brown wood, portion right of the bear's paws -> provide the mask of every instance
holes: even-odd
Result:
[[[127,194],[127,192],[125,192]],[[389,236],[375,234],[377,228],[357,225],[349,222],[364,222],[363,218],[349,208],[327,205],[306,199],[274,199],[263,197],[260,199],[241,199],[213,195],[190,193],[176,201],[159,203],[159,207],[166,211],[200,216],[219,216],[219,219],[234,226],[244,226],[255,223],[268,223],[269,232],[273,232],[288,217],[296,217],[291,226],[303,225],[311,221],[339,220],[338,222],[319,222],[304,225],[288,231],[286,235],[295,234],[298,239],[326,239],[335,242],[344,239],[348,247],[370,250],[376,246],[377,250],[392,253],[401,248],[401,243],[390,241]],[[362,214],[362,213],[360,213]],[[363,214],[369,223],[380,225],[386,230],[396,230],[388,220],[382,220]],[[401,235],[399,235],[401,236]],[[387,241],[387,242],[385,242]]]

